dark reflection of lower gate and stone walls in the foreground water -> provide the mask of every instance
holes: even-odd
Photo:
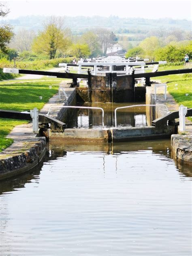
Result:
[[[39,164],[38,167],[34,168],[32,171],[27,172],[23,175],[18,175],[9,180],[0,181],[0,194],[5,192],[11,192],[19,188],[24,188],[26,183],[39,182],[41,168],[43,164],[54,161],[57,158],[62,158],[67,156],[67,152],[85,152],[83,154],[92,154],[93,152],[99,152],[103,154],[103,170],[105,173],[105,155],[115,156],[115,170],[117,171],[117,159],[119,155],[122,154],[142,154],[142,151],[151,151],[152,154],[159,156],[165,156],[166,158],[161,158],[161,160],[171,160],[171,143],[169,139],[164,140],[151,140],[151,141],[134,141],[125,143],[98,143],[95,145],[90,145],[90,143],[66,143],[63,141],[52,141],[47,148],[47,152],[43,162]],[[175,162],[176,169],[179,173],[186,177],[192,177],[191,166],[185,164],[178,164]]]

